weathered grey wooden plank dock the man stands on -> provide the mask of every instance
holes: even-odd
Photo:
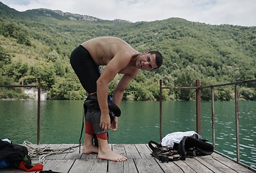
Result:
[[[185,161],[170,161],[161,163],[158,159],[153,158],[151,150],[147,144],[109,144],[113,151],[127,156],[127,161],[107,161],[97,159],[97,154],[79,154],[79,147],[74,148],[75,151],[68,154],[55,154],[46,157],[46,164],[43,170],[53,172],[175,172],[175,173],[205,173],[205,172],[254,172],[235,161],[227,159],[220,154],[213,153],[210,156],[197,156],[195,158],[187,158]],[[36,145],[34,145],[36,146]],[[37,147],[44,147],[40,145]],[[77,146],[72,144],[48,144],[50,148],[69,148]],[[81,147],[82,148],[82,147]],[[36,158],[35,158],[36,159]],[[0,172],[17,173],[25,172],[21,169],[0,169]]]

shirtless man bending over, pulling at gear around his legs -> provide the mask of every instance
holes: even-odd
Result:
[[[113,93],[113,102],[119,106],[129,81],[135,78],[139,70],[152,71],[162,65],[163,58],[157,51],[139,53],[124,40],[118,37],[96,37],[75,48],[70,56],[70,63],[74,72],[86,92],[97,93],[98,105],[101,109],[99,128],[93,128],[85,117],[85,141],[83,154],[98,153],[98,159],[111,161],[125,161],[127,158],[116,154],[108,147],[106,130],[116,130],[118,117],[111,122],[108,115],[108,84],[116,74],[124,74]],[[98,66],[106,66],[102,74]],[[85,115],[86,116],[86,115]],[[98,147],[93,145],[93,134],[98,138]]]

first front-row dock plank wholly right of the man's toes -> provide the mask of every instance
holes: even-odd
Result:
[[[134,159],[138,172],[163,172],[158,162],[153,158],[148,159]]]

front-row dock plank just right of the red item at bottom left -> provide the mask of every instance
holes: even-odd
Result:
[[[74,159],[48,160],[43,166],[43,171],[48,171],[51,169],[53,172],[69,172],[72,164],[74,164]]]

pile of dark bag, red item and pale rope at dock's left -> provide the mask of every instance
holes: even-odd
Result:
[[[68,148],[38,147],[29,141],[24,141],[22,145],[18,145],[13,144],[9,139],[0,140],[0,169],[14,167],[24,169],[27,172],[56,173],[51,170],[43,171],[43,164],[46,163],[46,157],[54,154],[72,153],[76,147],[78,145]],[[33,160],[35,166],[31,164],[30,158],[33,157],[38,158],[38,161]]]

